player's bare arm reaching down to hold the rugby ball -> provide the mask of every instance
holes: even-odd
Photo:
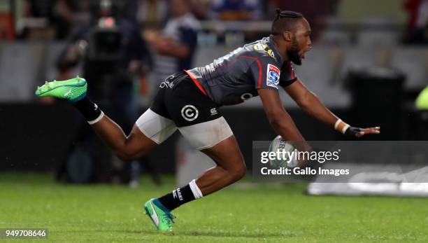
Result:
[[[285,111],[283,103],[277,90],[259,89],[260,99],[264,106],[264,111],[273,130],[280,134],[287,141],[305,141],[300,134],[291,116]],[[312,148],[306,142],[294,144],[299,151],[311,151]]]

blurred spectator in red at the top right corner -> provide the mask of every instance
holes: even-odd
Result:
[[[408,23],[404,42],[412,44],[426,44],[428,24],[428,1],[406,0],[403,4],[404,11],[408,12]]]

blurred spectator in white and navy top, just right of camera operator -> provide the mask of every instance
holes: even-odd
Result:
[[[192,67],[197,47],[199,21],[190,11],[189,1],[171,0],[172,18],[166,22],[162,33],[145,32],[145,39],[157,53],[155,58],[156,81],[161,83],[167,76]]]

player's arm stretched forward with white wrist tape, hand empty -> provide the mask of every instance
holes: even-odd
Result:
[[[334,115],[327,107],[320,102],[320,99],[308,90],[301,81],[297,80],[291,85],[284,88],[285,92],[294,99],[301,109],[309,115],[317,118],[322,123],[334,127],[338,132],[354,137],[362,137],[365,134],[379,134],[380,127],[359,128],[351,127],[344,123],[340,118]]]

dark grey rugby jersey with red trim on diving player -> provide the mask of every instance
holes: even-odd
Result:
[[[283,62],[265,37],[186,71],[199,90],[217,105],[231,105],[258,96],[257,89],[278,90],[297,80],[290,61]]]

